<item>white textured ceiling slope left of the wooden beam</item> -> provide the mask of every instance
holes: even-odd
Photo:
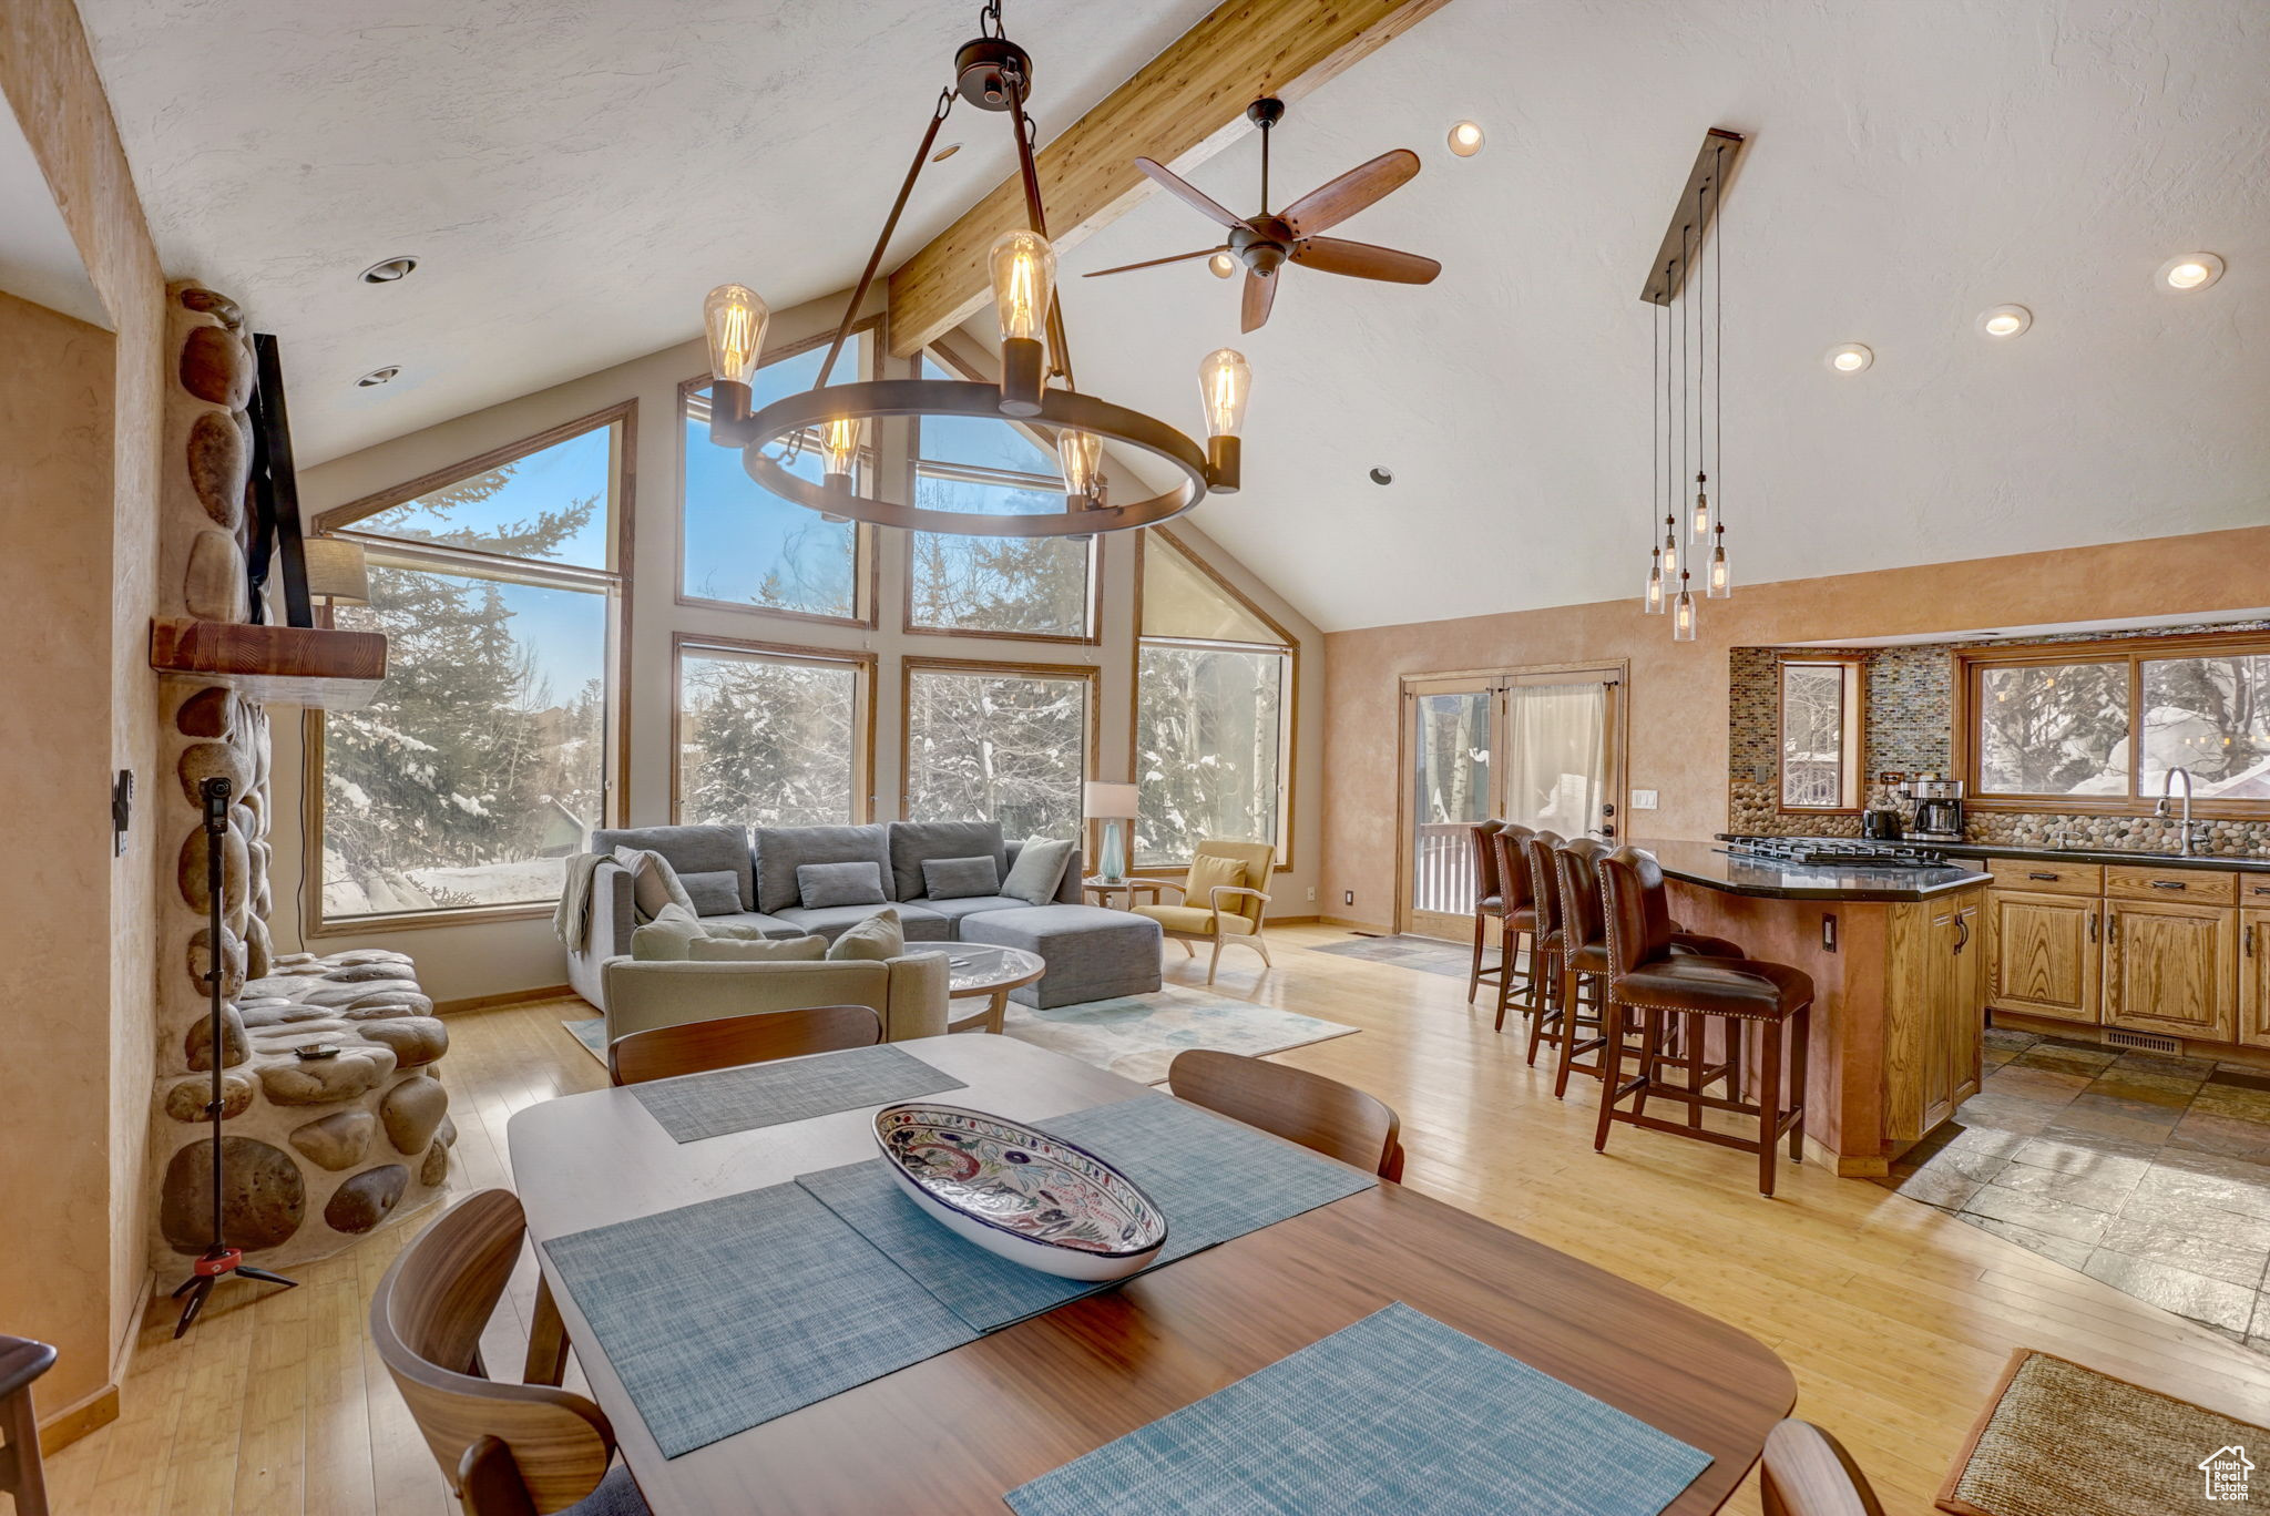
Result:
[[[1058,132],[1205,0],[1010,0]],[[166,270],[279,334],[302,463],[858,277],[976,0],[79,0]],[[956,109],[897,256],[1015,168]],[[400,286],[356,275],[395,254]],[[395,363],[390,386],[356,374]]]

